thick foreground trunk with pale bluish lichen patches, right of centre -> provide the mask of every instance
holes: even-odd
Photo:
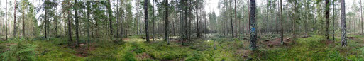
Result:
[[[256,21],[255,21],[255,0],[250,0],[250,50],[256,50],[257,33],[255,32]]]

